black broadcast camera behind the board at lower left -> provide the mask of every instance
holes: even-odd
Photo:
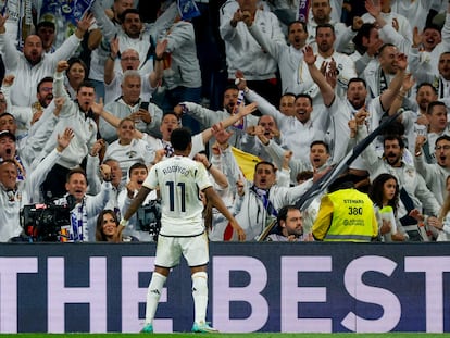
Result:
[[[33,241],[62,241],[61,229],[70,225],[70,205],[30,204],[21,210],[21,226]]]

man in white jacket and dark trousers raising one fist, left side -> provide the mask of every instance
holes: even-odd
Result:
[[[74,133],[74,140],[65,150],[64,154],[58,160],[50,171],[48,178],[42,185],[46,199],[61,197],[65,192],[64,183],[66,174],[73,167],[79,166],[88,151],[97,140],[97,124],[91,118],[91,107],[95,104],[96,91],[93,86],[84,82],[79,85],[76,101],[70,99],[68,92],[64,88],[63,72],[68,68],[67,61],[60,61],[53,80],[53,93],[55,100],[63,99],[61,111],[51,136],[43,146],[42,151],[35,161],[40,161],[51,149],[54,148],[57,135],[62,133],[65,127],[71,127]]]

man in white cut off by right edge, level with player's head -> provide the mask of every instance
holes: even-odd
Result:
[[[440,204],[443,204],[448,195],[447,177],[450,175],[450,136],[442,135],[435,142],[435,158],[437,163],[429,164],[425,161],[422,146],[424,136],[417,136],[415,141],[414,165],[417,172],[425,178],[429,190],[436,196]]]

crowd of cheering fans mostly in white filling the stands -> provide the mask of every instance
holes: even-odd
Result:
[[[35,17],[23,43],[0,14],[1,242],[49,238],[43,210],[64,208],[54,240],[154,240],[157,191],[117,226],[182,125],[247,240],[275,220],[268,240],[321,239],[321,196],[296,202],[398,112],[346,176],[377,240],[450,238],[450,1],[203,0],[192,21],[176,1],[103,2],[70,36]],[[251,180],[239,150],[259,158]],[[210,239],[236,240],[204,205]]]

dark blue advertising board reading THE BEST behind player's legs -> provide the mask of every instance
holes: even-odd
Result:
[[[0,333],[137,333],[154,243],[0,245]],[[450,243],[210,246],[208,320],[224,333],[450,331]],[[157,333],[192,325],[182,261]]]

